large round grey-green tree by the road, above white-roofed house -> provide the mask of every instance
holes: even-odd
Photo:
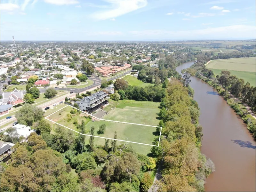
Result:
[[[18,122],[24,122],[31,126],[33,122],[40,121],[43,118],[44,111],[34,105],[24,104],[19,111],[15,113]]]

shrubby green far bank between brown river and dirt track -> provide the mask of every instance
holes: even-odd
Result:
[[[214,83],[211,79],[202,75],[196,75],[196,77],[198,77],[199,79],[202,79],[204,82],[214,87],[220,93],[220,95],[227,101],[228,105],[232,109],[234,109],[236,111],[236,114],[243,119],[245,124],[247,124],[247,129],[252,133],[252,137],[255,140],[256,120],[255,120],[255,115],[250,109],[250,107],[244,104],[238,98],[235,98],[229,92],[226,93],[225,89],[221,85]]]

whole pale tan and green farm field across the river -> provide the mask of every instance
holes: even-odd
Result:
[[[222,70],[228,70],[232,75],[243,78],[245,83],[248,81],[252,86],[255,86],[255,62],[255,57],[212,60],[206,67],[212,70],[215,75],[220,74]]]

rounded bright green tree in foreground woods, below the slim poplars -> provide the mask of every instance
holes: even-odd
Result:
[[[71,164],[74,168],[76,168],[77,173],[87,169],[95,169],[97,166],[94,158],[88,152],[75,156],[71,160]]]

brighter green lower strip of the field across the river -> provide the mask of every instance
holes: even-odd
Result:
[[[209,69],[212,70],[215,75],[220,75],[221,71],[226,70],[226,69],[211,69],[211,68],[209,68]],[[255,83],[256,73],[255,72],[233,71],[233,70],[228,70],[228,71],[230,71],[231,75],[235,75],[238,78],[244,79],[244,83],[246,83],[248,81],[252,86],[255,87],[255,85],[256,85],[256,83]]]

